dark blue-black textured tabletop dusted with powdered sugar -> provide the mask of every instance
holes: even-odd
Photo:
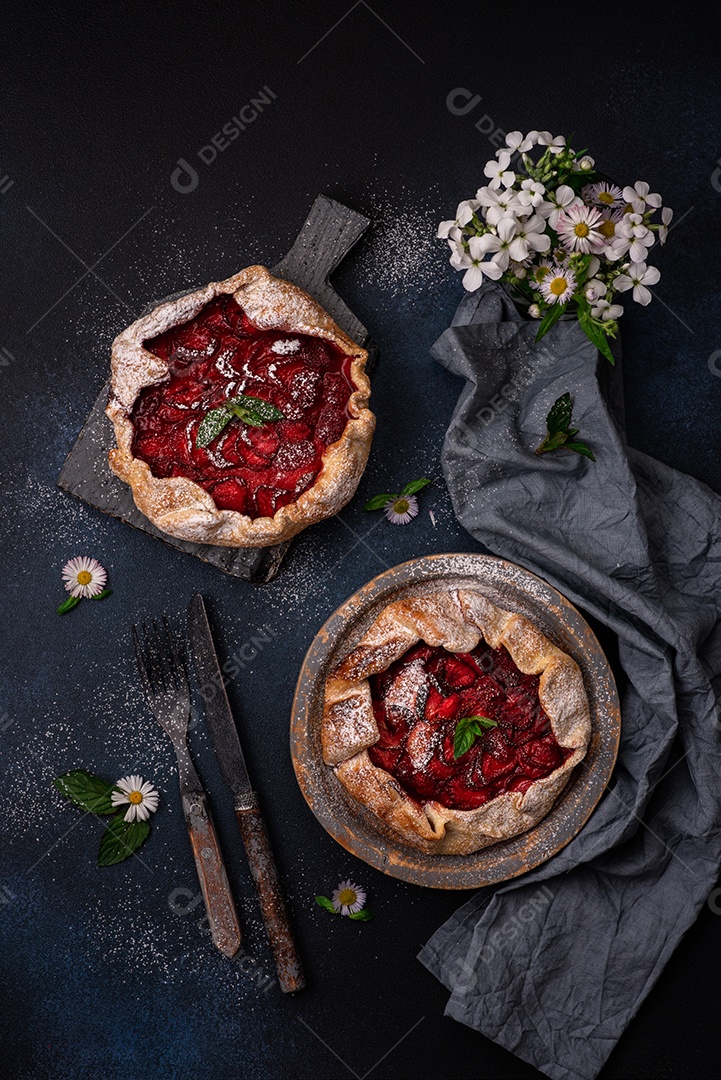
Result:
[[[446,991],[414,959],[464,894],[385,878],[315,823],[288,756],[291,696],[313,634],[366,580],[414,555],[477,550],[443,484],[405,529],[360,509],[378,490],[439,473],[460,386],[428,347],[461,285],[434,234],[481,183],[493,147],[477,121],[573,133],[604,172],[648,179],[675,207],[678,229],[655,256],[658,302],[627,303],[623,320],[629,441],[721,490],[719,42],[713,26],[659,27],[650,13],[636,25],[626,11],[609,13],[601,25],[588,10],[580,24],[573,9],[555,8],[541,28],[531,5],[472,10],[473,19],[467,4],[377,0],[83,15],[25,3],[9,21],[0,46],[2,1076],[538,1075],[444,1018]],[[262,86],[272,104],[212,165],[200,162],[199,149]],[[446,106],[454,87],[481,97],[465,116]],[[187,194],[169,179],[180,158],[200,178]],[[253,261],[272,266],[318,191],[373,220],[336,284],[381,349],[379,427],[358,496],[300,537],[280,577],[257,589],[71,500],[55,481],[107,376],[113,336],[154,297]],[[58,619],[59,571],[77,554],[100,559],[114,594]],[[177,620],[195,590],[223,656],[259,631],[266,638],[230,697],[291,894],[309,976],[296,999],[275,986],[263,993],[256,974],[213,949],[202,908],[180,909],[196,879],[171,746],[141,699],[128,627],[160,611]],[[202,724],[191,745],[247,950],[270,972]],[[137,770],[158,784],[141,861],[95,868],[98,823],[51,786],[78,766],[108,779]],[[345,876],[369,890],[372,923],[314,906],[316,892]],[[709,907],[603,1076],[715,1071],[720,964],[721,918]]]

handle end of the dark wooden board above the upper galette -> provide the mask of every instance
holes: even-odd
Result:
[[[276,278],[285,278],[310,293],[340,328],[364,347],[368,330],[340,298],[328,278],[369,225],[370,220],[363,214],[328,195],[318,195],[293,247],[271,271]]]

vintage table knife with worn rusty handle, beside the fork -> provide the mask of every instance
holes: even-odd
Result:
[[[195,674],[201,685],[205,718],[216,753],[220,774],[233,793],[233,806],[243,837],[248,866],[258,892],[266,932],[273,950],[278,983],[284,994],[305,985],[303,970],[293,940],[288,913],[281,893],[266,825],[258,808],[243,757],[237,729],[218,657],[213,644],[205,604],[195,593],[188,608],[188,631]]]

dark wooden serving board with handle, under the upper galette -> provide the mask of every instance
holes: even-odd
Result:
[[[336,293],[328,279],[369,225],[369,219],[362,214],[327,195],[318,195],[293,247],[271,271],[310,293],[350,338],[368,350],[368,369],[377,360],[378,350],[370,341],[366,327]],[[165,300],[193,293],[199,287],[196,285],[157,300],[148,305],[142,314]],[[190,543],[161,532],[140,513],[130,487],[111,472],[108,464],[108,450],[114,445],[112,424],[105,414],[109,386],[108,380],[66,459],[57,480],[58,487],[105,514],[158,537],[178,551],[212,563],[225,573],[255,583],[275,577],[288,543],[273,548],[217,548]]]

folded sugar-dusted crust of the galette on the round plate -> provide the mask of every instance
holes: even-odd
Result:
[[[420,804],[368,757],[368,746],[380,738],[372,707],[368,714],[368,676],[384,671],[420,639],[467,652],[481,636],[491,648],[505,646],[520,671],[540,675],[539,699],[554,734],[573,753],[526,792],[499,795],[475,810],[452,810],[433,800]],[[342,728],[334,712],[339,687],[349,703]],[[358,715],[354,723],[351,703],[360,700],[366,703],[363,719]],[[584,757],[589,739],[588,701],[575,661],[523,616],[496,607],[474,590],[434,592],[389,604],[326,680],[322,720],[326,765],[335,767],[354,798],[411,847],[428,853],[470,854],[536,825]]]

